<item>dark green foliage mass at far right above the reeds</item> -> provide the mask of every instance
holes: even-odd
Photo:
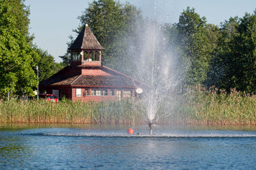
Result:
[[[230,18],[221,25],[216,55],[212,59],[211,85],[221,89],[256,91],[256,15]]]

